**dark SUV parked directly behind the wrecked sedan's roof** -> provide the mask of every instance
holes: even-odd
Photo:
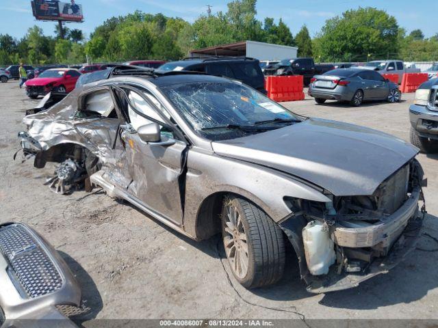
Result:
[[[216,75],[217,77],[230,77],[266,94],[263,72],[261,72],[259,61],[253,58],[185,58],[180,61],[170,61],[159,66],[158,70],[188,70]]]

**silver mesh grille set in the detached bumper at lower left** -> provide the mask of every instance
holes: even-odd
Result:
[[[55,265],[21,224],[0,228],[0,252],[27,297],[47,295],[62,287],[62,277]]]

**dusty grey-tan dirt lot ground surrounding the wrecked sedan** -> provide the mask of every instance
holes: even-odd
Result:
[[[25,109],[37,100],[16,81],[0,84],[0,99],[0,222],[28,223],[60,251],[83,288],[90,309],[83,318],[438,318],[436,251],[417,250],[387,275],[342,292],[307,293],[292,259],[276,286],[245,290],[233,279],[217,237],[190,241],[98,189],[64,196],[49,191],[43,183],[51,167],[12,160]],[[404,99],[359,109],[310,99],[285,105],[408,140],[413,94]],[[426,226],[438,237],[438,156],[422,154],[420,162],[429,183]],[[438,247],[426,236],[420,244]]]

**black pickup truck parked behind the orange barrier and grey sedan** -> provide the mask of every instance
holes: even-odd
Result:
[[[292,58],[283,59],[279,64],[272,68],[264,70],[265,75],[302,75],[304,77],[304,84],[309,85],[310,79],[315,74],[323,74],[329,70],[335,69],[332,64],[316,65],[313,58]]]

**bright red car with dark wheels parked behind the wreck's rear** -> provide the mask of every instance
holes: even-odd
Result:
[[[78,70],[71,68],[52,68],[45,70],[35,79],[27,80],[26,94],[29,98],[35,99],[44,96],[49,92],[71,92],[75,89],[76,81],[81,76]]]

